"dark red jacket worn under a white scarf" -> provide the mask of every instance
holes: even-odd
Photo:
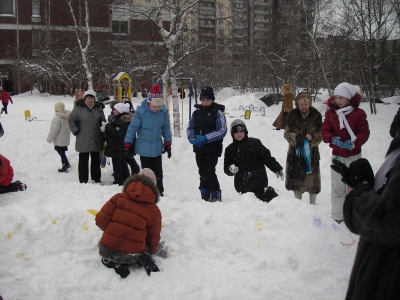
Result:
[[[350,135],[346,128],[340,130],[339,118],[336,114],[336,110],[339,107],[335,104],[335,96],[328,99],[327,105],[329,110],[325,113],[324,123],[322,124],[322,140],[325,143],[329,143],[329,147],[332,148],[332,155],[337,155],[341,157],[354,156],[361,153],[361,146],[364,145],[369,138],[369,127],[367,121],[367,115],[364,110],[358,108],[361,102],[361,95],[356,94],[350,100],[350,105],[355,107],[355,109],[346,115],[347,122],[350,128],[353,130],[357,139],[354,141],[354,149],[348,150],[345,148],[340,148],[332,144],[332,138],[335,136],[340,136],[342,142],[350,140]]]

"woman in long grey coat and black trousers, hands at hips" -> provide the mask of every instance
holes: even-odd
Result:
[[[79,152],[79,182],[87,183],[90,175],[95,182],[101,182],[100,151],[103,147],[103,134],[100,130],[104,116],[104,104],[96,101],[96,92],[87,90],[83,99],[76,101],[76,106],[68,117],[71,132],[76,136],[75,150]]]

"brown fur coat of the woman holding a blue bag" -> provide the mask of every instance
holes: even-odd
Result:
[[[298,108],[293,109],[289,114],[284,133],[284,137],[289,143],[288,154],[286,157],[285,176],[285,187],[287,190],[313,194],[318,194],[321,191],[321,173],[319,169],[320,154],[318,149],[318,145],[322,142],[321,127],[321,113],[312,106],[310,107],[310,113],[308,114],[306,123],[304,123],[303,117]],[[287,174],[290,160],[296,152],[296,136],[302,135],[305,137],[307,134],[310,134],[312,137],[310,142],[312,173],[307,174],[306,179],[303,182],[293,181],[290,180]]]

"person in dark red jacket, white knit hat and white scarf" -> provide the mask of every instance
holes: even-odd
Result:
[[[361,95],[353,85],[342,82],[327,101],[329,109],[322,124],[322,139],[332,148],[332,159],[339,159],[346,166],[361,157],[361,146],[369,138],[367,115],[358,108]],[[331,170],[332,218],[343,221],[343,203],[346,197],[346,185],[342,176]]]

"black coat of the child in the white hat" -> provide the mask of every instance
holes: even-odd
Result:
[[[114,158],[126,157],[124,148],[124,139],[128,126],[132,121],[132,113],[120,114],[106,125],[105,133],[107,135],[107,146],[105,155]]]

